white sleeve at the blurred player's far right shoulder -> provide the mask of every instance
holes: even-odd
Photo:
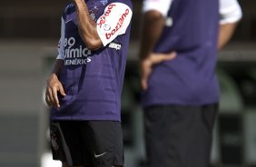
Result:
[[[231,24],[241,19],[241,6],[237,0],[220,0],[220,24]]]

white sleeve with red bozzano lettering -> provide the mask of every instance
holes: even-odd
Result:
[[[122,3],[112,3],[105,7],[103,15],[97,20],[97,33],[104,46],[112,42],[116,36],[125,34],[132,15],[132,9]]]

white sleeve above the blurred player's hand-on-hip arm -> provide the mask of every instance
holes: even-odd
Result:
[[[171,5],[172,0],[143,0],[143,13],[156,10],[166,17]]]

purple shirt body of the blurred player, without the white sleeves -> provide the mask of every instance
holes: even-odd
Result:
[[[217,0],[172,2],[153,52],[176,51],[177,56],[154,67],[148,90],[143,93],[144,106],[218,103],[215,64],[219,17]]]

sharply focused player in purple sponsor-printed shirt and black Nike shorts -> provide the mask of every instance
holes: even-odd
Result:
[[[123,166],[121,92],[132,3],[74,0],[47,80],[51,148],[63,167]]]

